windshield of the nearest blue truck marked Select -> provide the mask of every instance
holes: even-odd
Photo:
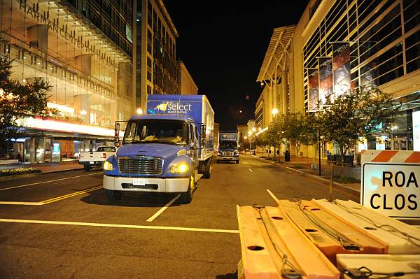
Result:
[[[136,120],[128,122],[125,143],[187,145],[188,125],[178,120]]]

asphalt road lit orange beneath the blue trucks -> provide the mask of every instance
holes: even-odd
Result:
[[[160,215],[176,195],[111,203],[101,185],[100,170],[0,181],[0,278],[237,278],[237,205],[275,206],[267,189],[278,199],[328,196],[325,185],[248,156],[214,164],[192,203]]]

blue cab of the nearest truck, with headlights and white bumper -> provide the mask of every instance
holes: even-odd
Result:
[[[104,164],[104,188],[110,200],[123,192],[181,193],[190,203],[199,170],[202,143],[188,115],[138,115],[127,122],[116,155]]]

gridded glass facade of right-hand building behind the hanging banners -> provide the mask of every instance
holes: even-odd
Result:
[[[309,21],[325,2],[311,1]],[[367,142],[367,148],[414,150],[414,141],[420,141],[417,131],[420,128],[413,126],[412,117],[420,110],[420,1],[331,2],[328,11],[318,20],[320,23],[304,41],[303,69],[316,68],[317,57],[332,57],[331,42],[350,42],[351,83],[377,85],[393,93],[395,102],[403,104],[397,122],[384,123],[377,138]],[[307,71],[303,78],[304,110],[307,111]]]

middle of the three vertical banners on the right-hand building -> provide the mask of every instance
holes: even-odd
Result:
[[[318,57],[319,65],[319,100],[325,105],[327,98],[334,101],[332,94],[332,57]]]

